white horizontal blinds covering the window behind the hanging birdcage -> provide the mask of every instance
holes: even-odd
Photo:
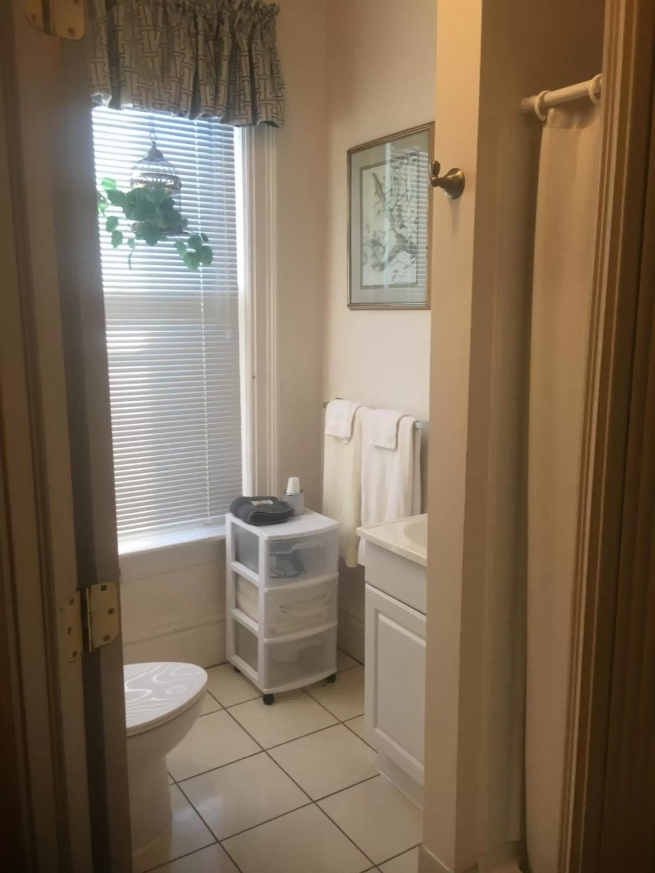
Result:
[[[214,259],[190,272],[172,242],[140,243],[130,270],[127,245],[113,249],[100,219],[121,542],[220,522],[242,481],[234,129],[94,109],[99,185],[129,189],[153,121],[182,179],[183,215]]]

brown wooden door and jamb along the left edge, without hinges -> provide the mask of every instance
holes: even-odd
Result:
[[[3,702],[17,870],[128,873],[121,636],[71,661],[64,608],[118,582],[83,41],[0,4]]]

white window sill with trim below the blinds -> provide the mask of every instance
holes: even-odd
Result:
[[[216,561],[217,543],[224,539],[225,526],[214,525],[124,541],[119,546],[121,580]]]

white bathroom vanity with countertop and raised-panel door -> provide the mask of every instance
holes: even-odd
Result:
[[[402,519],[360,533],[366,540],[367,739],[380,772],[421,806],[426,548],[416,525],[417,519]]]

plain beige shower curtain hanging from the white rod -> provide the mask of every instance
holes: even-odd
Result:
[[[527,496],[526,828],[533,873],[556,873],[589,354],[601,120],[551,109],[534,243]]]

